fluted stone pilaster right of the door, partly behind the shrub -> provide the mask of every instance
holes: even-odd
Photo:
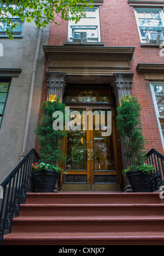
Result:
[[[116,97],[116,105],[119,107],[121,105],[121,100],[125,95],[132,95],[132,82],[134,74],[114,74],[114,95]],[[122,152],[122,165],[123,168],[131,165],[131,160],[128,159],[124,153],[126,152],[126,147],[120,138],[121,152]],[[129,185],[128,179],[125,177],[125,191],[132,191]]]

